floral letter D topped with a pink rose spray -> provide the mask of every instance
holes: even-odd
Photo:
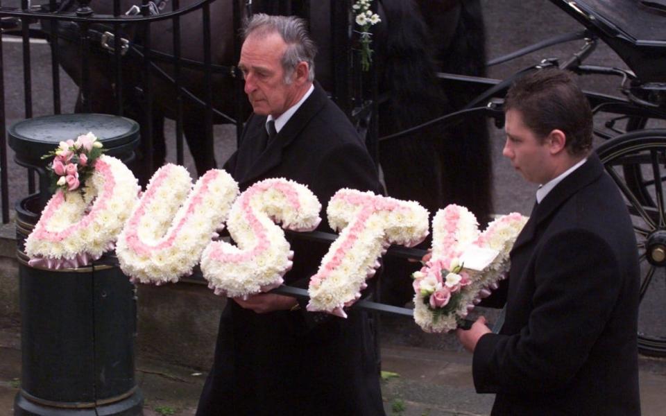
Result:
[[[102,152],[101,142],[88,133],[60,142],[43,157],[53,157],[49,171],[56,193],[26,239],[31,266],[86,266],[114,248],[140,188],[127,166]]]

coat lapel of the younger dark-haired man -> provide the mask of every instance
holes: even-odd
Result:
[[[539,225],[543,223],[544,220],[554,214],[556,209],[574,195],[574,193],[577,193],[583,187],[586,187],[591,182],[597,180],[603,171],[604,167],[601,166],[597,154],[592,153],[589,155],[587,162],[565,177],[562,182],[558,183],[557,186],[554,187],[545,198],[543,198],[540,204],[535,205],[529,220],[518,235],[518,238],[515,239],[511,254],[520,249],[523,245],[532,241],[534,236],[536,236]]]

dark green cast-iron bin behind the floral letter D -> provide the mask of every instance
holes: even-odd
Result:
[[[49,270],[28,266],[25,239],[51,198],[40,157],[60,141],[93,132],[107,155],[130,162],[139,125],[107,114],[37,117],[8,130],[15,161],[40,175],[40,192],[19,201],[17,258],[22,378],[15,415],[141,415],[135,381],[135,288],[116,266]]]

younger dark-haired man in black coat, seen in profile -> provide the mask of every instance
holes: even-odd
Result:
[[[542,187],[511,251],[502,329],[479,318],[458,330],[477,392],[497,393],[492,415],[640,415],[636,242],[590,154],[588,102],[545,69],[512,87],[505,111],[504,156]]]

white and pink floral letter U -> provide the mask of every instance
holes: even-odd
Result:
[[[192,189],[187,169],[162,166],[119,236],[116,254],[123,272],[133,281],[158,285],[191,274],[238,193],[225,171],[207,171]]]

